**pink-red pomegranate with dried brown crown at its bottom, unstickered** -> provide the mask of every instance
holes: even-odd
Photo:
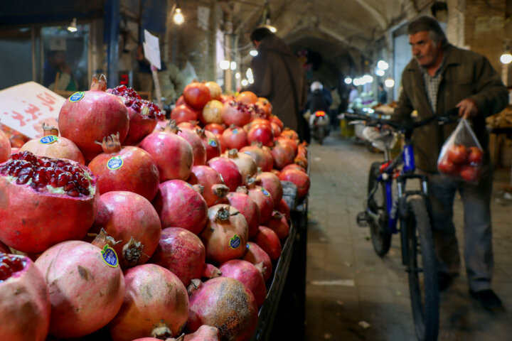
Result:
[[[146,263],[158,246],[161,234],[160,218],[145,197],[127,191],[112,191],[100,195],[95,222],[90,233],[107,234],[119,244],[117,253],[121,269]],[[128,247],[130,239],[141,243],[141,251]]]

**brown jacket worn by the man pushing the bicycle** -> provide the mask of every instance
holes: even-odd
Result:
[[[506,87],[483,55],[453,45],[447,45],[444,53],[441,83],[437,92],[437,112],[432,112],[422,72],[417,61],[413,59],[402,72],[403,90],[393,119],[410,120],[411,112],[417,110],[416,120],[419,121],[433,114],[443,114],[454,109],[462,99],[474,99],[479,114],[469,119],[469,123],[484,148],[484,163],[489,164],[489,134],[485,118],[500,112],[506,106]],[[415,146],[417,168],[426,172],[437,172],[437,158],[442,144],[456,126],[456,123],[439,126],[437,122],[433,122],[415,129],[412,144]]]

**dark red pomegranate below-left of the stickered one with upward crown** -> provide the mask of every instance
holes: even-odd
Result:
[[[163,266],[188,286],[193,278],[201,278],[206,261],[206,251],[196,234],[181,227],[162,230],[151,263]]]

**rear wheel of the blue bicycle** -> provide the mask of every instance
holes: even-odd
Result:
[[[384,183],[377,183],[380,175],[380,162],[374,162],[370,168],[368,175],[368,194],[373,190],[375,185],[378,186],[373,197],[368,200],[368,208],[378,215],[378,220],[370,220],[370,235],[372,239],[373,249],[379,256],[388,253],[391,246],[391,234],[388,232],[388,211],[386,210],[387,199],[385,194]]]

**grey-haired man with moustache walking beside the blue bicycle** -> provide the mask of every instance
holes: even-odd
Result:
[[[507,90],[489,60],[449,44],[434,18],[417,18],[409,23],[407,31],[414,58],[402,73],[403,90],[394,119],[409,121],[412,111],[417,110],[420,120],[457,107],[459,116],[470,121],[484,148],[478,183],[465,183],[437,171],[441,146],[457,124],[432,123],[416,129],[412,136],[417,167],[429,180],[439,290],[446,289],[459,276],[461,261],[452,221],[454,197],[459,192],[464,205],[464,260],[469,293],[484,308],[499,308],[501,301],[491,290],[494,260],[489,202],[493,170],[485,118],[506,106]]]

